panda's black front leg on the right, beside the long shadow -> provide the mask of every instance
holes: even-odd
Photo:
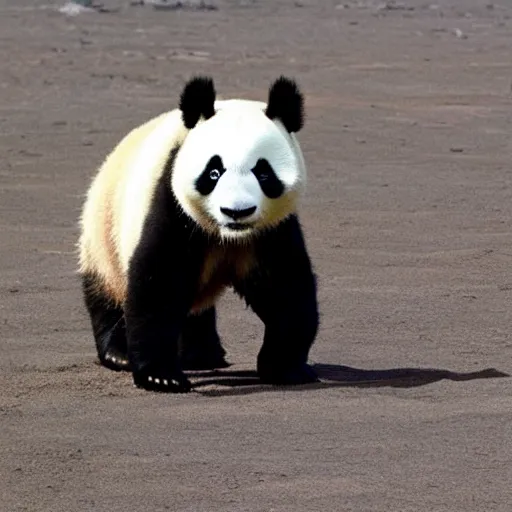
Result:
[[[308,365],[318,330],[316,278],[298,219],[257,242],[259,269],[236,288],[265,324],[257,370],[262,382],[318,381]]]

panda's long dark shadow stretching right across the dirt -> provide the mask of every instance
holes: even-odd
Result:
[[[332,387],[397,387],[425,386],[440,380],[468,381],[510,377],[509,374],[485,368],[474,372],[454,372],[438,368],[391,368],[388,370],[364,370],[333,364],[313,364],[320,382],[300,386],[271,386],[262,384],[255,371],[215,370],[190,372],[193,390],[211,396],[243,395],[262,391],[304,391]],[[205,389],[206,388],[206,389]]]

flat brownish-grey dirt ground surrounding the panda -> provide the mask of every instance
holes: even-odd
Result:
[[[491,2],[0,0],[2,512],[512,510],[512,5]],[[258,384],[232,294],[233,366],[193,393],[96,363],[87,185],[195,73],[304,90],[320,385]]]

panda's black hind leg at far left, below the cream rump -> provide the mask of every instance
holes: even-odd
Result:
[[[111,370],[129,371],[122,308],[112,304],[93,274],[82,275],[82,288],[100,363]]]

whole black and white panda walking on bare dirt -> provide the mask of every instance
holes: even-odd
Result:
[[[296,82],[267,102],[216,98],[194,76],[179,106],[129,132],[92,179],[79,275],[99,361],[136,387],[191,390],[187,370],[225,368],[215,304],[232,288],[264,324],[261,382],[318,381],[307,364],[317,284],[297,205],[306,166]]]

